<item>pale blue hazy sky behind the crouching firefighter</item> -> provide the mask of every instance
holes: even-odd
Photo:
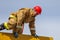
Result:
[[[60,0],[0,0],[0,24],[8,20],[11,12],[23,7],[33,8],[40,5],[42,14],[36,17],[36,33],[39,36],[52,36],[54,40],[60,40],[59,4]],[[30,34],[28,24],[25,24],[23,34]]]

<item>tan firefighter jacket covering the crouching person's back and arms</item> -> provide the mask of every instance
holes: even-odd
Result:
[[[35,11],[31,8],[21,8],[16,12],[16,15],[17,26],[21,26],[24,23],[29,23],[31,34],[35,34]]]

